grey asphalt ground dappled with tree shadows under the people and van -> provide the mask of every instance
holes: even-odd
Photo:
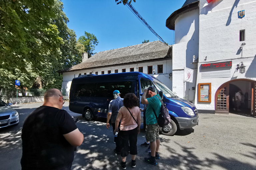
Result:
[[[18,126],[0,129],[0,169],[20,170],[22,155],[21,129],[24,119],[42,103],[13,106],[20,116]],[[106,118],[94,122],[77,116],[77,127],[84,134],[84,142],[77,147],[72,169],[103,170],[122,169],[120,155],[114,153],[112,128],[106,128]],[[177,131],[174,136],[160,135],[160,159],[153,166],[144,162],[147,147],[145,132],[138,135],[138,155],[135,169],[157,170],[256,170],[256,118],[241,115],[199,114],[199,126]],[[131,156],[127,157],[126,169],[131,167]]]

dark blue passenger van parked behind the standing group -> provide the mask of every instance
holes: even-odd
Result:
[[[72,80],[69,94],[69,110],[82,114],[87,121],[107,117],[108,105],[113,100],[113,91],[119,90],[123,98],[134,93],[140,100],[144,89],[154,86],[169,110],[171,123],[160,128],[160,133],[173,135],[177,128],[185,129],[198,125],[198,112],[193,103],[179,98],[157,78],[141,73],[126,72],[103,75],[80,75]],[[140,108],[144,108],[140,103]],[[141,113],[143,128],[143,112]]]

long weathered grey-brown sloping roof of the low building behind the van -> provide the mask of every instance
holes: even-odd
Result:
[[[168,46],[167,44],[160,41],[155,41],[102,51],[96,53],[80,64],[74,65],[73,67],[61,70],[59,72],[63,73],[81,69],[92,69],[151,60],[171,59],[171,49],[172,47]]]

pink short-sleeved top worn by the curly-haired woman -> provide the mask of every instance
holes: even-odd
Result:
[[[134,119],[137,121],[137,118],[140,115],[140,108],[138,106],[135,106],[133,108],[128,108],[134,117]],[[121,107],[118,111],[118,114],[122,115],[120,130],[132,130],[136,127],[138,127],[137,123],[132,118],[130,112],[126,109],[125,106]]]

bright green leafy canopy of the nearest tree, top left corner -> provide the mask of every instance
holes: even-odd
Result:
[[[0,68],[13,73],[15,69],[35,72],[47,63],[45,55],[58,56],[62,39],[52,11],[54,0],[0,1]]]

